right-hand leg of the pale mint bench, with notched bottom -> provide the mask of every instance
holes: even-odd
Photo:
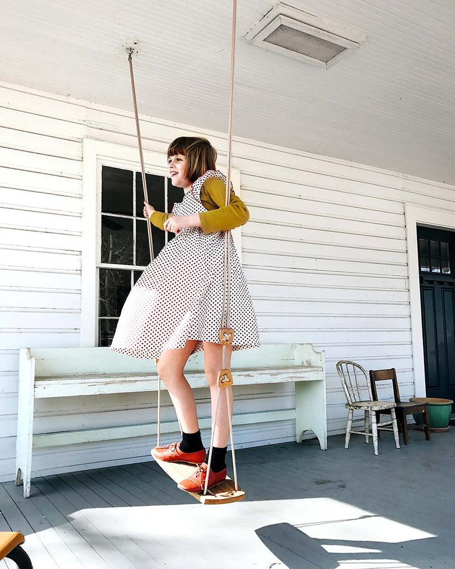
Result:
[[[327,409],[323,381],[295,382],[295,440],[302,442],[313,431],[323,451],[327,450]]]

